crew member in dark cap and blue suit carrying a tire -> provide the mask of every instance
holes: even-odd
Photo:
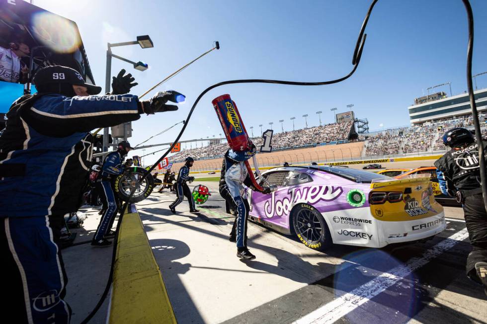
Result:
[[[111,241],[108,241],[105,237],[115,235],[115,232],[111,228],[115,216],[121,207],[121,202],[115,195],[114,180],[125,171],[125,164],[122,164],[122,162],[130,150],[132,150],[130,143],[121,141],[118,143],[117,151],[110,152],[105,157],[105,161],[101,167],[101,181],[98,182],[98,191],[103,202],[103,214],[91,241],[91,245],[108,246],[111,244]]]

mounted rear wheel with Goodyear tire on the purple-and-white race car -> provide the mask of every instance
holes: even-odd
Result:
[[[309,248],[323,251],[331,245],[328,226],[320,212],[312,206],[297,205],[292,212],[292,221],[294,233]]]

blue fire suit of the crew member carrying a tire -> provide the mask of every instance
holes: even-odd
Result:
[[[112,227],[115,216],[120,209],[120,201],[115,196],[115,189],[113,187],[113,180],[121,173],[123,173],[125,166],[122,165],[122,156],[118,151],[109,153],[103,166],[101,167],[101,181],[99,182],[99,192],[103,199],[103,215],[100,223],[93,236],[93,242],[99,241],[105,237],[107,232]]]

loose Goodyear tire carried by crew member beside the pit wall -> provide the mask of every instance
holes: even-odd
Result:
[[[142,183],[139,183],[146,171],[141,167],[131,167],[128,171],[117,176],[114,183],[117,196],[130,203],[137,203],[149,197],[154,190],[153,176],[149,174]],[[129,200],[130,192],[134,187],[136,188],[134,195]]]

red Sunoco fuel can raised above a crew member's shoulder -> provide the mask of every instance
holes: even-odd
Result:
[[[222,124],[223,132],[227,137],[232,150],[241,152],[250,149],[249,139],[245,126],[243,126],[237,105],[230,98],[230,94],[223,94],[212,101],[213,108]]]

